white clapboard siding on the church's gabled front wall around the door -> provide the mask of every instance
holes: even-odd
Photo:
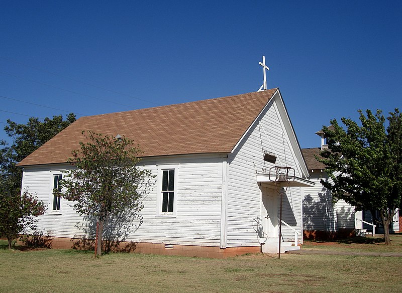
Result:
[[[260,245],[255,229],[256,221],[261,218],[261,190],[256,182],[257,173],[266,173],[269,168],[281,163],[293,167],[296,176],[301,177],[275,107],[275,102],[271,101],[228,157],[228,247]],[[277,154],[276,164],[263,161],[263,150]],[[283,209],[283,220],[301,233],[300,188],[289,188],[285,197],[287,210]],[[282,235],[288,240],[294,237],[294,232],[284,227]]]

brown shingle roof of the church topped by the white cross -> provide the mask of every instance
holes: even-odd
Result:
[[[82,130],[129,137],[142,157],[230,153],[277,90],[81,117],[18,166],[65,163]]]

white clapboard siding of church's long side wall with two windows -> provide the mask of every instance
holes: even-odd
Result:
[[[226,160],[226,158],[225,158]],[[133,232],[125,235],[127,241],[183,245],[220,245],[221,235],[221,198],[222,198],[222,163],[219,155],[215,156],[169,156],[149,160],[144,159],[143,168],[151,170],[156,176],[163,164],[177,165],[177,214],[176,217],[157,216],[156,203],[157,178],[151,178],[155,184],[143,198],[144,208],[140,212],[142,225],[134,220]],[[159,166],[159,167],[158,167]],[[23,188],[37,194],[39,199],[50,204],[53,188],[53,174],[70,168],[69,165],[49,167],[26,167],[24,169]],[[88,228],[84,221],[69,205],[61,201],[60,214],[48,212],[38,218],[38,230],[45,234],[68,238],[92,238],[94,225]],[[112,224],[115,224],[113,222]]]

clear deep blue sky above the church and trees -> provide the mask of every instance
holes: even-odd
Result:
[[[402,108],[401,14],[399,1],[2,3],[0,122],[257,91],[265,55],[301,147],[318,147],[332,118]]]

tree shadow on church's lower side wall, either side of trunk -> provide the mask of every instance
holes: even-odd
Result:
[[[105,252],[131,252],[137,247],[135,242],[126,242],[130,234],[141,226],[143,217],[137,210],[110,216],[104,225],[102,235],[102,250]],[[74,235],[71,239],[73,249],[95,249],[96,218],[84,216],[82,222],[75,227],[81,230],[84,236]]]

